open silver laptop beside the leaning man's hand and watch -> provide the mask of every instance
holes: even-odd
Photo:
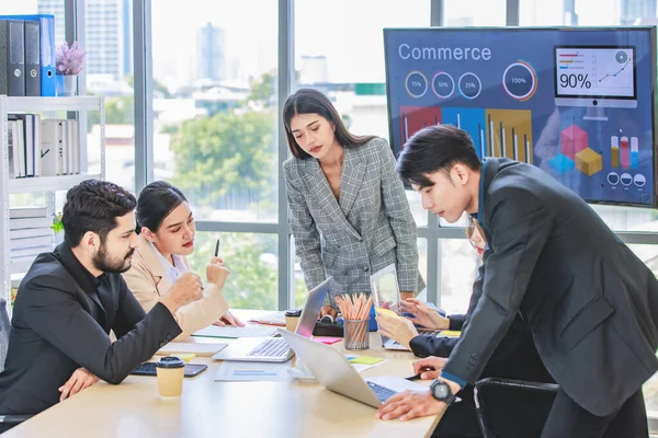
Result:
[[[428,390],[399,377],[363,379],[339,349],[281,328],[279,332],[322,387],[358,402],[379,407],[398,392]]]

